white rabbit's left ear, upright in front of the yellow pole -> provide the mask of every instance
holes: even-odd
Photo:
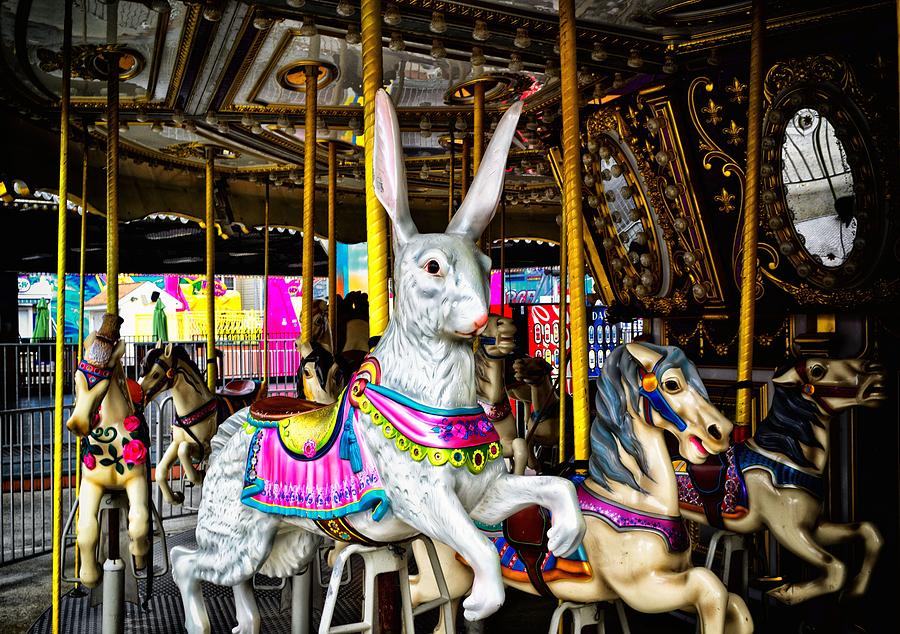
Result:
[[[409,215],[406,193],[406,166],[400,124],[391,98],[382,89],[375,94],[375,153],[373,163],[375,196],[384,205],[394,225],[394,236],[404,244],[419,231]]]

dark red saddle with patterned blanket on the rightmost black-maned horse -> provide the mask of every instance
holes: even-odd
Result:
[[[710,526],[724,528],[725,520],[740,519],[750,508],[747,485],[736,459],[740,447],[743,445],[732,445],[700,465],[672,461],[680,506],[704,513]]]

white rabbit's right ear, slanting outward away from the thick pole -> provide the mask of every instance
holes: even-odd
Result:
[[[522,102],[510,106],[488,144],[478,173],[472,179],[472,185],[466,193],[466,199],[459,211],[453,216],[446,233],[456,233],[478,240],[494,217],[500,196],[503,194],[503,179],[506,176],[506,157],[509,145],[516,133],[519,115],[522,114]]]

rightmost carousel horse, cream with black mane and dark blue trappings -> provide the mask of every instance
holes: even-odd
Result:
[[[753,438],[708,464],[674,463],[682,514],[735,533],[768,528],[779,544],[824,573],[769,591],[787,604],[844,588],[846,566],[825,547],[860,540],[865,548],[862,568],[845,593],[862,596],[882,547],[881,534],[869,522],[824,520],[824,474],[831,418],[884,401],[883,368],[863,359],[804,358],[776,371],[772,381],[772,407]]]

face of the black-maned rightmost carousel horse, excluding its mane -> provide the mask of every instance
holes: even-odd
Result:
[[[850,407],[877,407],[887,398],[884,367],[866,359],[806,357],[775,373],[781,387],[796,387],[829,415]]]

